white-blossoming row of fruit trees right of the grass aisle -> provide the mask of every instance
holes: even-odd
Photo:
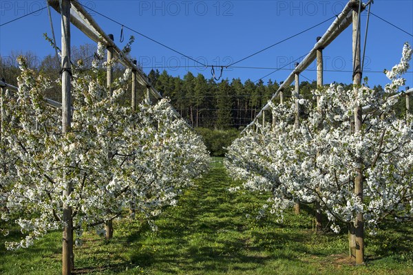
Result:
[[[355,246],[355,228],[363,232],[360,214],[370,232],[389,217],[412,221],[413,120],[411,115],[400,118],[394,111],[399,98],[390,98],[405,85],[401,75],[411,58],[406,43],[401,63],[387,73],[392,83],[384,90],[363,85],[355,87],[354,94],[341,85],[319,87],[314,100],[299,98],[301,115],[293,99],[271,104],[273,123],[248,129],[226,155],[229,173],[243,182],[234,191],[268,192],[270,206],[263,210],[277,214],[280,221],[283,211],[297,202],[315,203],[333,231],[348,226],[350,248]],[[354,105],[365,107],[358,133]],[[360,170],[361,197],[354,192]]]

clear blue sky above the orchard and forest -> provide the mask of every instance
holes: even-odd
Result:
[[[83,0],[81,3],[202,63],[229,65],[329,19],[341,12],[347,1]],[[45,1],[1,0],[0,24],[45,5]],[[405,32],[413,34],[412,0],[374,0],[372,12]],[[129,30],[124,30],[126,39],[120,43],[120,25],[94,12],[91,13],[105,32],[114,34],[115,41],[120,47],[125,45],[130,35],[136,37],[131,55],[138,59],[145,72],[158,67],[161,72],[167,69],[173,76],[182,77],[190,71],[195,75],[200,73],[207,78],[211,77],[211,68],[194,67],[197,65],[194,61]],[[60,44],[60,15],[54,10],[52,10],[52,19]],[[316,37],[324,34],[333,20],[234,65],[237,67],[224,69],[223,77],[230,80],[241,78],[243,81],[248,78],[253,81],[262,78],[274,71],[271,68],[282,67],[308,53]],[[363,40],[366,13],[363,13],[361,24]],[[54,54],[52,47],[43,38],[44,32],[51,36],[47,10],[3,25],[0,28],[1,56],[8,56],[12,50],[23,52],[30,50],[40,58],[47,54]],[[413,45],[413,37],[405,32],[397,30],[377,17],[370,17],[363,76],[368,76],[371,86],[388,83],[385,75],[380,72],[385,68],[391,69],[400,61],[403,43],[409,42]],[[338,71],[325,72],[325,83],[351,82],[352,74],[343,72],[352,69],[351,37],[351,29],[348,28],[324,50],[324,69]],[[92,43],[92,41],[72,27],[72,45],[83,43]],[[282,81],[290,74],[290,69],[293,69],[293,65],[263,80],[265,83],[269,78],[277,82]],[[215,71],[219,73],[220,69]],[[315,79],[315,65],[311,65],[301,75],[301,81],[307,78]],[[413,87],[412,68],[405,78],[407,86]]]

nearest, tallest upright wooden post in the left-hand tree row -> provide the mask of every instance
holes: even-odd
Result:
[[[70,132],[72,123],[71,65],[70,65],[70,0],[61,1],[61,32],[62,32],[62,133]],[[72,192],[72,181],[65,179],[63,197],[69,197]],[[65,201],[65,200],[63,200]],[[73,218],[72,207],[63,203],[63,244],[62,244],[62,274],[72,273],[73,263]]]

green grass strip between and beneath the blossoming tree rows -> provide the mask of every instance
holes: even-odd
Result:
[[[158,217],[157,232],[139,219],[123,219],[112,241],[85,234],[75,249],[76,274],[413,274],[411,226],[366,236],[367,265],[355,266],[347,234],[315,234],[308,206],[298,216],[286,214],[283,225],[271,216],[255,219],[266,195],[228,192],[235,183],[221,159],[214,160],[178,206]],[[60,274],[60,252],[60,232],[25,250],[9,252],[1,244],[0,274]]]

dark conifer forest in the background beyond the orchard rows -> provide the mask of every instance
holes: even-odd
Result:
[[[90,63],[96,47],[93,45],[81,45],[72,48],[72,63],[79,59],[85,61],[85,70],[91,67]],[[20,73],[16,62],[17,56],[23,54],[28,58],[28,64],[33,69],[43,74],[48,74],[52,79],[59,78],[60,65],[54,56],[36,58],[32,52],[12,52],[10,56],[0,57],[0,77],[7,83],[17,85],[17,76]],[[102,72],[103,76],[105,70]],[[114,67],[114,76],[123,74],[123,67]],[[152,85],[162,94],[170,98],[171,104],[176,108],[182,118],[187,120],[195,128],[207,128],[215,130],[237,129],[242,130],[249,124],[255,115],[262,109],[268,100],[275,94],[280,83],[276,80],[259,80],[254,83],[240,78],[232,80],[224,79],[215,81],[213,78],[205,78],[204,75],[194,75],[191,72],[180,76],[170,76],[167,71],[160,73],[157,69],[151,70],[148,75]],[[104,77],[103,77],[104,78]],[[341,84],[343,85],[343,84]],[[351,89],[351,85],[343,85],[344,89]],[[299,85],[300,94],[304,98],[313,98],[311,91],[317,88],[315,81],[309,83],[302,81]],[[290,98],[294,87],[284,90],[284,97]],[[374,89],[383,89],[380,85]],[[60,89],[45,91],[45,96],[54,100],[60,100]],[[145,96],[145,87],[138,85],[138,99]],[[152,99],[153,100],[153,99]],[[400,101],[397,111],[403,115],[404,98]],[[129,104],[130,98],[125,98],[125,104]],[[271,115],[266,119],[271,120]]]

